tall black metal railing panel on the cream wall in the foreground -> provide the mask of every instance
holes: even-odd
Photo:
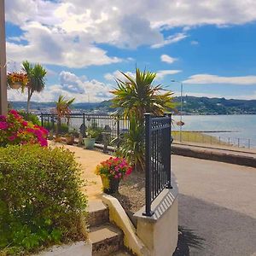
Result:
[[[152,216],[151,204],[163,189],[171,186],[172,116],[152,117],[145,113],[146,211]]]

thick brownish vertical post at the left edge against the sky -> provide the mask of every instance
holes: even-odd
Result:
[[[0,114],[7,114],[7,76],[4,0],[0,0]]]

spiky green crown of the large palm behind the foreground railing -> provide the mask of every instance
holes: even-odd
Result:
[[[117,88],[112,91],[113,107],[125,114],[125,118],[135,115],[137,120],[143,122],[143,114],[150,112],[162,115],[166,110],[173,109],[173,93],[158,84],[153,85],[156,73],[141,72],[136,69],[136,78],[120,72],[125,81],[116,79]],[[161,93],[164,92],[164,93]]]

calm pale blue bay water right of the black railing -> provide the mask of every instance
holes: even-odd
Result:
[[[175,121],[178,116],[173,116]],[[183,116],[183,131],[231,131],[209,133],[221,140],[237,143],[238,138],[241,146],[256,148],[256,115],[186,115]],[[174,130],[179,127],[174,125]],[[250,141],[248,141],[250,140]]]

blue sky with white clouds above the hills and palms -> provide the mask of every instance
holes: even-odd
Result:
[[[255,0],[6,0],[5,11],[8,71],[27,60],[48,72],[32,101],[108,100],[136,67],[175,96],[182,82],[184,95],[256,99]]]

